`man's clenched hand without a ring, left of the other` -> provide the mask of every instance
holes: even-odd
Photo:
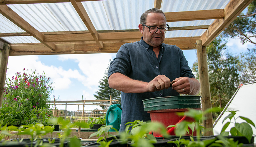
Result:
[[[148,92],[159,91],[168,89],[171,84],[171,80],[165,75],[158,75],[147,84]]]

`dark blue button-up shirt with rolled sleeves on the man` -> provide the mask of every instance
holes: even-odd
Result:
[[[195,77],[188,66],[183,51],[176,45],[162,44],[158,58],[153,47],[141,40],[123,44],[116,58],[110,63],[108,78],[113,73],[124,74],[134,80],[150,82],[159,74],[171,81],[178,77]],[[149,113],[144,111],[142,100],[154,97],[177,96],[172,88],[148,93],[121,93],[122,116],[120,132],[124,124],[135,120],[150,120]]]

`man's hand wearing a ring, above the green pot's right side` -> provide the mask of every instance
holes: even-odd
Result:
[[[195,78],[179,77],[172,82],[172,89],[180,94],[197,95],[199,93],[200,83]]]

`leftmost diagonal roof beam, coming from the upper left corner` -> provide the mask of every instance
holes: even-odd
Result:
[[[11,22],[16,24],[18,27],[26,31],[28,34],[32,35],[34,38],[43,43],[46,47],[49,47],[51,50],[55,50],[54,43],[46,43],[44,42],[44,34],[36,30],[32,27],[27,21],[21,18],[17,13],[15,13],[11,8],[7,5],[0,5],[0,13],[4,15]]]

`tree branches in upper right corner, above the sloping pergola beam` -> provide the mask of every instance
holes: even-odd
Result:
[[[256,44],[256,1],[254,0],[247,8],[247,14],[241,13],[224,31],[225,37],[240,38],[244,44],[247,41]]]

